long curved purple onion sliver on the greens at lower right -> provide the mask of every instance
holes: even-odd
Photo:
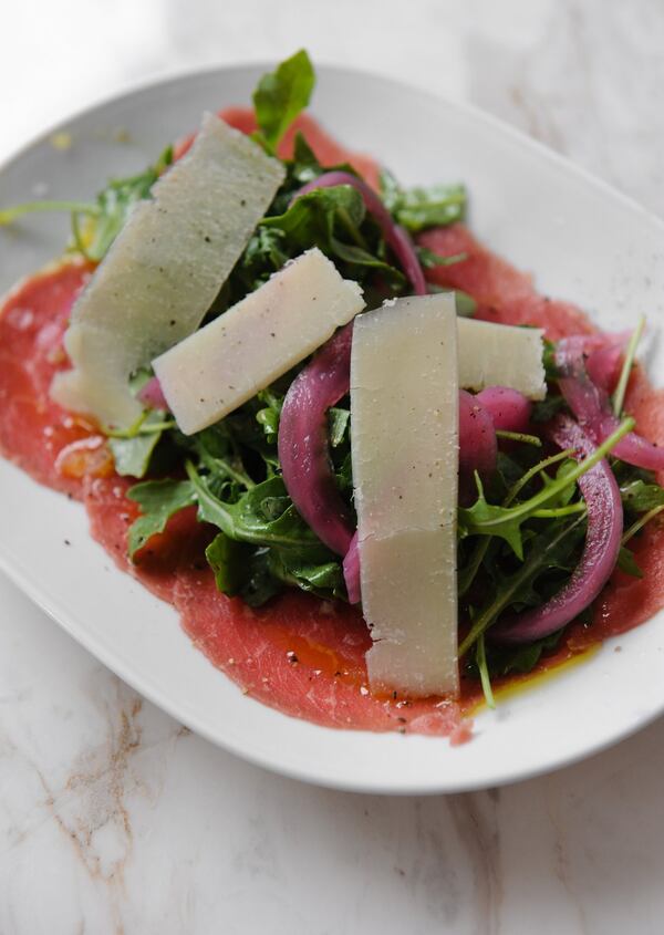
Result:
[[[569,416],[559,416],[548,433],[562,449],[574,448],[577,460],[592,455],[593,440]],[[606,459],[579,478],[588,509],[585,546],[572,576],[550,601],[505,620],[489,631],[496,643],[532,643],[574,620],[598,596],[615,568],[623,528],[620,490]]]

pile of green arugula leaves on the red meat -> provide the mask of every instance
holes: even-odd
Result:
[[[309,104],[315,83],[304,51],[263,75],[253,94],[258,131],[253,137],[270,154]],[[121,230],[132,206],[146,197],[172,163],[168,147],[158,162],[133,178],[111,181],[93,202],[20,206],[0,215],[0,224],[22,212],[64,208],[72,211],[71,250],[101,260]],[[307,183],[330,167],[320,165],[302,134],[294,137],[292,158],[284,159],[286,180],[258,225],[208,315],[224,311],[259,288],[292,257],[318,247],[342,276],[361,283],[371,308],[385,298],[407,294],[408,283],[394,266],[380,227],[367,214],[361,194],[349,185],[319,188],[293,200]],[[341,168],[356,174],[350,165]],[[402,188],[383,172],[382,199],[392,217],[412,233],[461,220],[466,191],[459,185]],[[450,262],[419,251],[423,266]],[[432,287],[433,291],[434,287]],[[471,314],[471,297],[457,295],[461,313]],[[549,394],[535,411],[546,423],[564,409],[557,392],[552,347],[548,349]],[[342,564],[297,512],[281,477],[277,438],[282,402],[307,362],[258,393],[221,422],[187,437],[167,413],[149,411],[125,433],[108,433],[120,474],[136,478],[128,496],[141,516],[129,530],[131,557],[141,561],[149,539],[179,510],[196,506],[198,518],[214,530],[206,550],[220,591],[259,605],[286,586],[321,598],[345,599]],[[627,361],[624,382],[629,376]],[[141,386],[148,373],[136,374]],[[619,409],[622,406],[619,407]],[[583,548],[585,507],[577,481],[592,464],[610,454],[631,427],[619,430],[583,464],[571,451],[550,455],[537,436],[499,433],[498,469],[490,484],[478,479],[475,501],[459,508],[459,613],[465,674],[481,678],[491,700],[490,678],[530,671],[553,648],[560,633],[526,646],[485,645],[485,633],[506,610],[539,606],[569,579]],[[353,511],[349,399],[329,412],[331,457],[339,490]],[[502,436],[502,437],[501,437]],[[620,568],[641,575],[629,540],[664,510],[664,490],[653,475],[611,459],[625,512]]]

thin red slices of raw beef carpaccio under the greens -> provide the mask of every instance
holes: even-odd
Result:
[[[226,120],[256,128],[250,111],[232,108]],[[310,117],[301,116],[281,143],[292,153],[293,135],[307,137],[321,164],[349,162],[377,187],[376,164],[344,150]],[[186,152],[189,141],[177,150]],[[463,290],[478,304],[476,316],[543,328],[559,340],[592,333],[572,305],[539,295],[529,276],[485,249],[463,224],[429,229],[418,242],[452,266],[427,271],[436,285]],[[105,436],[94,422],[65,412],[50,397],[54,374],[68,367],[63,334],[72,304],[94,266],[66,259],[17,287],[0,314],[0,451],[37,481],[81,500],[94,538],[115,562],[180,614],[194,645],[250,696],[288,715],[336,728],[469,736],[469,716],[481,700],[476,679],[461,679],[458,700],[412,700],[369,687],[365,653],[371,637],[353,606],[290,589],[261,607],[217,590],[205,561],[214,530],[198,522],[194,507],[176,515],[165,532],[127,558],[127,530],[138,515],[125,495],[131,482],[115,474]],[[650,440],[664,444],[664,399],[635,368],[626,411]],[[559,645],[542,655],[528,676],[495,681],[495,687],[530,678],[577,656],[609,635],[623,633],[664,605],[664,529],[653,523],[633,546],[643,576],[615,571],[594,602],[592,622],[572,624]],[[139,622],[136,622],[139,626]]]

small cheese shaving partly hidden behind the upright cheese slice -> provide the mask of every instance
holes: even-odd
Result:
[[[459,384],[479,393],[509,386],[530,399],[547,395],[542,362],[544,332],[474,319],[459,319]]]

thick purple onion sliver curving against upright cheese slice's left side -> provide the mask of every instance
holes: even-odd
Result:
[[[326,414],[349,392],[352,339],[351,323],[298,374],[286,394],[279,422],[286,489],[302,519],[340,555],[349,550],[354,526],[332,470]]]

